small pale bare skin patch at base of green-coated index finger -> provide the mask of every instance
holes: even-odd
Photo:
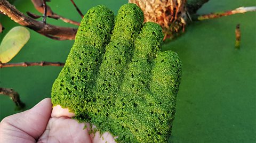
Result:
[[[73,117],[75,113],[69,112],[68,108],[62,108],[60,105],[54,106],[51,117]]]

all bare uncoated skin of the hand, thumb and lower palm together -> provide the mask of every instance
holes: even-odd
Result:
[[[5,117],[0,142],[115,142],[108,132],[90,133],[90,124],[78,123],[71,119],[74,115],[60,105],[52,107],[51,99],[45,98],[30,110]]]

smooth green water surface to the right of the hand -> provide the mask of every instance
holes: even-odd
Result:
[[[210,0],[199,14],[255,1]],[[182,80],[170,142],[256,141],[256,13],[195,22],[163,50],[178,53]],[[241,24],[241,49],[235,27]]]

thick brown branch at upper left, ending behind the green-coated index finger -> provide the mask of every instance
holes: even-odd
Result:
[[[13,5],[6,0],[0,0],[0,11],[9,16],[14,22],[19,23],[22,26],[26,26],[44,36],[51,36],[59,38],[61,40],[74,40],[77,29],[58,27],[51,24],[44,24],[41,21],[36,21],[18,11]]]

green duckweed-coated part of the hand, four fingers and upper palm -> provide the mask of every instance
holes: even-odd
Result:
[[[142,25],[136,5],[122,6],[113,21],[113,12],[104,6],[87,12],[54,82],[52,102],[118,140],[164,142],[180,83],[178,55],[160,52],[161,27]]]

